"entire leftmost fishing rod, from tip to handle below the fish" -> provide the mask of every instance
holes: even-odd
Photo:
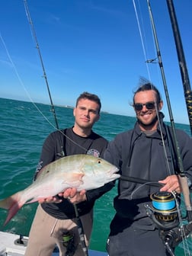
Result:
[[[51,93],[50,93],[50,86],[48,84],[48,79],[46,77],[46,71],[45,71],[45,68],[44,68],[44,65],[43,65],[43,58],[42,58],[42,55],[40,53],[40,46],[39,46],[39,43],[37,41],[37,35],[35,33],[35,30],[34,30],[34,24],[33,24],[33,21],[30,17],[30,11],[29,11],[29,8],[28,8],[28,5],[27,5],[27,0],[24,0],[24,8],[25,8],[25,11],[26,11],[26,14],[27,14],[27,19],[30,23],[31,31],[32,31],[32,34],[34,36],[34,40],[36,42],[36,47],[37,47],[37,50],[38,50],[38,53],[39,53],[39,56],[40,56],[40,63],[41,63],[42,69],[43,69],[43,78],[45,78],[45,81],[46,81],[46,88],[47,88],[47,91],[48,91],[49,97],[50,97],[50,103],[51,103],[51,107],[52,107],[53,116],[55,118],[56,129],[59,130],[59,123],[58,123],[57,118],[56,118],[56,111],[55,111],[55,107],[54,107],[53,100],[52,100]],[[87,245],[85,244],[85,233],[84,233],[84,229],[83,229],[83,226],[82,226],[82,221],[81,221],[80,217],[78,216],[77,206],[74,203],[73,203],[73,206],[74,206],[74,210],[75,210],[75,216],[76,216],[76,219],[77,219],[78,235],[79,235],[80,242],[81,242],[81,245],[82,245],[82,250],[83,250],[85,256],[88,256],[88,248],[87,248]],[[68,252],[66,252],[66,254],[67,254],[66,256],[69,256]],[[73,254],[70,254],[70,255],[72,256]]]

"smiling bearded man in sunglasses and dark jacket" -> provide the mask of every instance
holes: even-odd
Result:
[[[170,255],[158,226],[146,210],[152,206],[150,196],[156,192],[181,193],[173,136],[171,127],[163,122],[162,106],[158,89],[148,82],[141,85],[133,96],[137,119],[133,130],[118,134],[104,152],[104,158],[116,165],[123,177],[146,181],[144,184],[118,181],[118,195],[114,198],[116,214],[107,240],[109,256]],[[176,134],[184,171],[191,181],[192,141],[181,130],[176,130]]]

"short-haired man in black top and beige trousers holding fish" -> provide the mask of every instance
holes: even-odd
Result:
[[[103,157],[107,140],[92,131],[94,123],[99,120],[100,111],[101,101],[97,95],[84,92],[78,97],[73,110],[74,126],[57,130],[46,138],[35,178],[43,166],[66,155],[91,154]],[[84,256],[73,203],[78,210],[88,246],[94,202],[112,187],[114,182],[88,190],[86,193],[84,190],[76,193],[75,189],[69,189],[69,192],[66,190],[64,194],[59,194],[59,197],[41,200],[30,229],[25,256],[50,256],[55,244],[59,247],[59,256]],[[68,238],[63,235],[64,233],[67,233]],[[67,243],[67,239],[70,239],[70,243]]]

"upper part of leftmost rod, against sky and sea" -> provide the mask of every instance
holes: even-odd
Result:
[[[59,124],[58,124],[58,121],[57,121],[57,118],[56,118],[56,111],[55,111],[55,107],[53,105],[53,101],[52,101],[52,97],[51,97],[51,93],[50,93],[50,86],[49,86],[49,83],[48,83],[48,79],[46,77],[46,71],[45,71],[45,68],[44,68],[44,65],[43,65],[43,58],[42,58],[41,53],[40,53],[40,46],[39,46],[39,43],[37,41],[37,36],[36,36],[35,30],[34,30],[34,24],[33,24],[33,21],[30,17],[30,11],[29,11],[29,8],[28,8],[28,5],[27,5],[27,0],[24,0],[24,8],[25,8],[25,11],[26,11],[26,14],[27,14],[27,19],[29,21],[32,34],[34,36],[34,40],[35,40],[35,43],[36,43],[36,48],[37,48],[37,51],[39,53],[40,63],[41,63],[42,69],[43,69],[43,78],[45,79],[46,88],[47,88],[47,91],[48,91],[48,94],[49,94],[49,97],[50,97],[51,111],[53,112],[53,116],[55,118],[56,129],[59,130]]]

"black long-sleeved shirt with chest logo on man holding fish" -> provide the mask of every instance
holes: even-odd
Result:
[[[107,140],[93,131],[88,137],[78,136],[72,128],[50,133],[43,144],[37,173],[43,166],[66,155],[89,154],[102,158],[106,147]],[[76,204],[79,216],[89,213],[94,206],[94,201],[112,187],[114,187],[114,182],[105,184],[98,189],[88,190],[86,192],[87,200]],[[61,203],[42,203],[41,206],[46,213],[56,219],[75,218],[74,206],[67,199],[62,198]]]

